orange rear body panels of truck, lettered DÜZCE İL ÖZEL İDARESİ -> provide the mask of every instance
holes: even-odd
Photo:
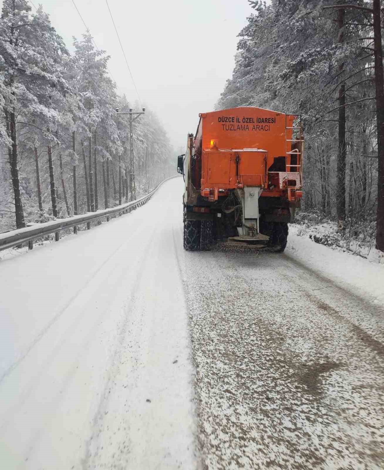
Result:
[[[284,113],[251,107],[201,113],[195,137],[195,149],[201,148],[201,189],[236,188],[238,181],[264,185],[274,158],[285,158],[287,148],[291,150],[287,140],[292,139],[292,129],[286,126],[292,127],[293,120]]]

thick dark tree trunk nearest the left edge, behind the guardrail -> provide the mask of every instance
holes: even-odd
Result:
[[[7,133],[12,140],[12,147],[8,148],[9,166],[11,169],[12,188],[15,198],[15,218],[16,228],[25,227],[23,204],[21,202],[19,169],[17,167],[17,140],[16,140],[16,119],[15,113],[8,113],[4,110]]]

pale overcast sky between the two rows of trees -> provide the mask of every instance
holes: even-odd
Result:
[[[42,3],[73,50],[84,24],[71,0]],[[75,0],[97,46],[111,59],[119,93],[137,94],[105,0]],[[108,0],[141,102],[161,119],[172,144],[185,147],[199,112],[213,110],[234,66],[237,34],[252,13],[247,0]]]

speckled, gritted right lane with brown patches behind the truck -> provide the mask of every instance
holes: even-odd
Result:
[[[383,469],[383,307],[285,254],[179,256],[205,468]]]

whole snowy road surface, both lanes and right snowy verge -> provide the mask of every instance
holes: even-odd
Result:
[[[182,186],[0,261],[0,468],[382,469],[383,266],[184,252]]]

